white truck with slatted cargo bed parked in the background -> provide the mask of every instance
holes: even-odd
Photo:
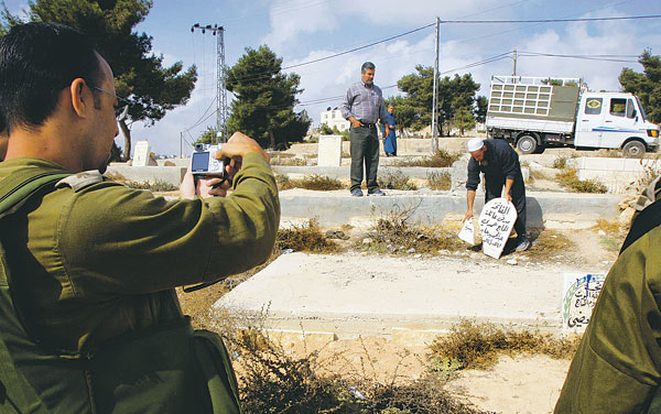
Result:
[[[659,126],[647,121],[638,97],[592,92],[575,78],[491,77],[486,128],[523,154],[573,146],[642,157],[659,148]]]

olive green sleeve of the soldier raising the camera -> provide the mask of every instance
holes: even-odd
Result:
[[[243,157],[234,190],[167,201],[112,183],[63,206],[57,249],[74,295],[141,294],[212,282],[264,262],[280,222],[268,162]]]

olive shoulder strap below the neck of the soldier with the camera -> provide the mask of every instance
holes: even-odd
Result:
[[[0,217],[19,208],[28,197],[42,187],[63,179],[72,173],[19,171],[0,181]]]

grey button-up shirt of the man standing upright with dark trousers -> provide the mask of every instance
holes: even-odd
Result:
[[[377,123],[379,119],[382,123],[388,122],[383,94],[375,84],[370,88],[362,81],[351,85],[339,110],[345,119],[354,117],[362,123]]]

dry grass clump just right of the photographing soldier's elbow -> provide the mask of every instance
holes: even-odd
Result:
[[[315,219],[310,219],[301,226],[294,225],[292,228],[278,230],[275,246],[280,251],[288,249],[312,253],[335,253],[339,251],[339,246],[322,233]]]

